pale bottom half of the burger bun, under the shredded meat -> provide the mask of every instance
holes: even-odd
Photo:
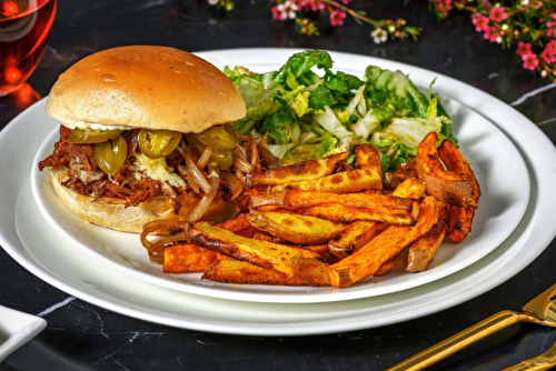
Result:
[[[67,167],[50,169],[50,173],[54,192],[73,213],[90,223],[121,232],[141,233],[143,224],[150,221],[185,218],[199,202],[195,194],[180,198],[179,214],[173,212],[173,207],[166,195],[157,195],[137,207],[126,207],[126,201],[121,199],[99,197],[93,200],[63,187],[61,183],[68,178]],[[222,217],[232,207],[231,201],[216,199],[203,219],[219,219],[218,217]]]

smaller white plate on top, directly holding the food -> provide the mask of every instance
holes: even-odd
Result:
[[[241,66],[247,64],[247,60]],[[341,61],[337,68],[346,71]],[[257,66],[251,70],[270,71],[280,64]],[[365,68],[349,73],[363,76]],[[406,259],[400,259],[396,269],[383,277],[369,278],[346,289],[282,287],[259,284],[229,284],[201,280],[200,273],[167,274],[161,265],[150,262],[139,237],[121,233],[85,222],[69,211],[54,193],[50,173],[39,171],[37,163],[46,159],[59,139],[58,129],[40,147],[31,170],[31,187],[34,200],[46,220],[58,234],[85,253],[95,253],[106,259],[106,264],[126,271],[139,279],[170,289],[215,297],[258,302],[328,302],[376,297],[407,290],[433,282],[481,259],[504,241],[517,225],[529,201],[529,174],[525,162],[512,141],[490,121],[454,101],[446,100],[446,109],[453,117],[455,134],[481,187],[483,194],[476,211],[474,228],[467,239],[454,244],[446,241],[425,272],[408,273],[404,269]],[[42,111],[41,106],[37,110]],[[48,118],[41,118],[47,121]],[[58,126],[58,123],[54,123]],[[495,150],[496,149],[496,150]],[[493,156],[496,153],[496,156]],[[512,171],[507,169],[512,168]]]

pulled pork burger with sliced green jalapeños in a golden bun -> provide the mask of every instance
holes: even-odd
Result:
[[[237,160],[245,151],[230,124],[246,114],[241,94],[182,50],[91,54],[59,77],[46,110],[60,139],[39,169],[72,212],[101,227],[139,233],[157,219],[218,221],[251,169]]]

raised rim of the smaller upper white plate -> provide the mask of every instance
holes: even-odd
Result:
[[[466,110],[469,110],[473,112],[473,114],[478,114],[476,111],[470,110],[467,108],[465,104],[457,102],[453,99],[450,99],[450,102],[454,102],[457,104],[457,108],[461,107]],[[468,113],[466,113],[468,114]],[[481,117],[484,120],[486,118]],[[488,251],[479,251],[475,252],[471,258],[465,259],[466,261],[465,264],[456,264],[455,267],[444,267],[440,268],[440,271],[435,272],[425,272],[425,274],[417,274],[417,275],[411,275],[409,280],[406,282],[401,283],[394,283],[389,284],[386,282],[386,287],[383,284],[384,282],[376,282],[376,280],[369,280],[368,282],[361,282],[358,287],[356,288],[347,288],[347,289],[335,289],[335,288],[291,288],[291,290],[287,290],[290,288],[275,288],[275,287],[264,287],[264,285],[249,285],[246,290],[246,285],[242,285],[239,288],[239,285],[229,285],[229,284],[221,284],[219,282],[215,283],[207,283],[203,285],[197,278],[186,278],[181,279],[179,277],[176,278],[176,280],[172,280],[170,277],[175,277],[173,274],[168,274],[163,273],[161,270],[156,271],[157,269],[153,268],[155,271],[146,271],[141,269],[135,269],[133,267],[126,265],[126,263],[121,262],[119,259],[110,259],[109,255],[107,255],[106,251],[99,251],[96,247],[90,247],[86,243],[86,241],[82,241],[79,239],[79,237],[75,237],[75,233],[71,233],[68,231],[67,228],[63,228],[61,225],[61,222],[56,220],[54,215],[50,213],[52,208],[58,208],[58,204],[51,205],[49,204],[50,202],[44,200],[46,194],[52,193],[50,190],[46,191],[44,190],[44,183],[49,182],[50,179],[47,174],[43,174],[38,171],[38,168],[33,166],[32,171],[31,171],[31,187],[32,187],[32,195],[36,200],[36,202],[39,205],[39,210],[41,211],[43,218],[47,220],[47,222],[52,227],[62,238],[64,238],[68,242],[71,244],[76,245],[76,248],[81,249],[86,251],[87,253],[92,253],[95,255],[100,257],[105,261],[107,261],[111,267],[118,270],[122,270],[125,273],[133,275],[138,279],[145,280],[150,283],[155,283],[161,287],[170,288],[177,291],[182,291],[182,292],[188,292],[188,293],[193,293],[193,294],[199,294],[199,295],[207,295],[207,297],[214,297],[214,298],[220,298],[220,299],[229,299],[229,300],[242,300],[242,301],[251,301],[251,302],[274,302],[274,303],[318,303],[318,302],[334,302],[334,301],[340,301],[340,300],[356,300],[356,299],[363,299],[363,298],[369,298],[369,297],[376,297],[376,295],[383,295],[383,294],[388,294],[397,291],[403,291],[403,290],[411,290],[418,285],[421,284],[427,284],[431,281],[443,279],[444,277],[447,277],[449,274],[453,274],[461,269],[464,269],[467,265],[470,265],[475,263],[477,260],[484,258],[486,254],[488,254],[490,251],[496,249],[504,240],[506,240],[513,232],[513,230],[519,224],[520,220],[523,219],[523,215],[525,214],[525,210],[527,209],[527,204],[529,202],[529,195],[530,195],[530,182],[527,182],[529,173],[528,169],[525,164],[525,161],[523,157],[520,156],[519,151],[515,148],[515,146],[512,143],[512,141],[502,132],[497,129],[497,127],[492,123],[489,120],[486,120],[489,126],[492,126],[489,129],[486,129],[488,133],[494,132],[495,136],[500,136],[504,141],[507,141],[508,144],[512,147],[508,149],[509,152],[516,154],[518,158],[519,163],[516,164],[518,168],[523,170],[523,176],[527,177],[525,180],[526,187],[522,189],[524,192],[524,198],[519,199],[517,201],[518,203],[518,210],[513,210],[515,214],[512,214],[512,217],[515,217],[515,219],[512,219],[512,229],[505,230],[504,237],[497,238],[496,242],[489,242],[489,250]],[[496,137],[498,138],[498,137]],[[49,149],[51,146],[51,142],[57,140],[57,128],[54,128],[46,138],[46,140],[39,146],[39,149],[37,151],[37,154],[34,156],[33,163],[37,163],[38,160],[42,159],[47,152],[47,149]],[[517,159],[515,159],[517,161]],[[48,180],[47,180],[48,179]],[[56,197],[56,195],[54,195]],[[484,205],[486,207],[486,205]],[[60,209],[63,209],[61,207]],[[483,209],[485,210],[485,209]],[[57,210],[54,210],[56,212]],[[63,211],[66,214],[68,212]],[[507,212],[507,211],[506,211]],[[79,223],[80,220],[79,218],[71,217],[72,220],[75,220],[76,223]],[[66,220],[66,222],[68,222]],[[99,229],[99,227],[92,227],[92,225],[87,225],[82,228],[92,228],[91,231],[95,229],[99,230],[100,233],[106,233],[106,231],[102,231]],[[480,243],[480,241],[479,241]],[[140,245],[139,245],[140,248]],[[465,247],[458,247],[458,245],[446,245],[446,249],[449,248],[461,248],[465,249]],[[117,247],[115,249],[118,249]],[[148,262],[141,261],[141,267]],[[159,268],[159,267],[158,267]],[[433,273],[433,274],[431,274]],[[168,275],[167,275],[168,274]],[[410,274],[410,273],[406,273]],[[200,275],[200,274],[196,274]],[[388,277],[385,277],[385,279],[388,279]],[[199,282],[198,282],[199,281]],[[365,287],[364,287],[365,285]],[[259,291],[260,290],[260,291]],[[265,292],[266,290],[266,292]]]

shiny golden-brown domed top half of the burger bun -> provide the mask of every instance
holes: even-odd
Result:
[[[69,127],[198,133],[245,117],[241,94],[215,66],[182,50],[131,46],[91,54],[62,73],[47,112]]]

